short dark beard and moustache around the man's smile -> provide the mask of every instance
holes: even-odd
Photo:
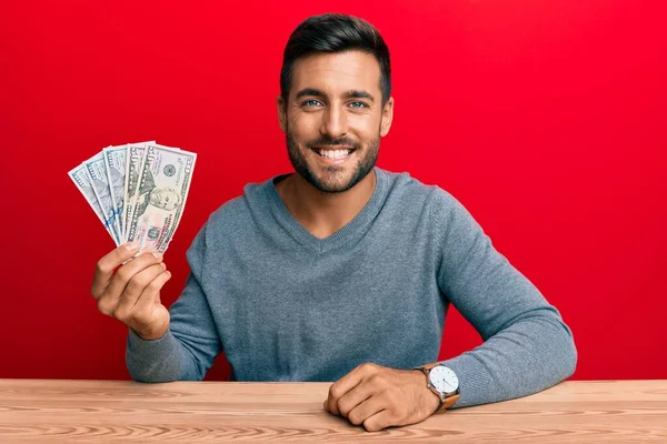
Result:
[[[349,178],[345,176],[346,168],[337,165],[328,165],[323,168],[323,173],[318,176],[308,164],[305,151],[312,151],[312,147],[318,145],[342,145],[351,147],[355,151],[354,154],[359,157],[357,163],[352,167],[352,172]],[[305,148],[299,147],[293,134],[287,130],[287,152],[289,154],[289,161],[291,162],[295,171],[299,173],[308,183],[315,186],[317,190],[323,193],[342,193],[348,191],[357,183],[359,183],[376,165],[378,154],[380,151],[380,137],[372,139],[368,147],[362,147],[348,138],[330,139],[326,135],[318,138],[312,141],[308,141]],[[315,152],[315,151],[312,151]],[[315,153],[316,155],[319,155]],[[350,153],[349,155],[352,155]],[[349,167],[348,167],[349,168]]]

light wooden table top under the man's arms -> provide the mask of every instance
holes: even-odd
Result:
[[[329,386],[0,380],[0,443],[667,443],[667,381],[565,382],[375,433],[322,410]]]

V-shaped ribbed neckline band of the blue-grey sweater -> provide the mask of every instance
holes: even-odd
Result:
[[[271,212],[276,216],[278,223],[302,246],[316,253],[325,253],[334,250],[362,235],[380,211],[387,193],[388,179],[384,170],[375,167],[374,171],[377,178],[376,186],[366,205],[364,205],[361,211],[350,222],[325,239],[319,239],[306,230],[306,228],[303,228],[303,225],[301,225],[289,212],[285,202],[282,202],[282,199],[280,199],[280,194],[276,189],[276,180],[286,178],[289,174],[275,176],[269,180],[269,183],[266,186]]]

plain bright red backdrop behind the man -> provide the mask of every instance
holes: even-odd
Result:
[[[395,123],[379,165],[456,195],[561,311],[576,379],[667,379],[661,2],[91,2],[0,6],[0,377],[127,379],[127,331],[88,290],[112,242],[67,171],[109,144],[199,153],[166,262],[208,214],[290,170],[275,98],[313,13],[387,40]],[[441,357],[479,343],[448,319]],[[417,345],[417,344],[416,344]],[[225,379],[220,359],[209,379]]]

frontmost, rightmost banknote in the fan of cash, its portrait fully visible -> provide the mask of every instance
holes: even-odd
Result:
[[[132,155],[130,150],[128,155]],[[139,252],[167,250],[183,214],[196,161],[192,152],[155,144],[146,148],[126,225],[126,241],[136,241]]]

